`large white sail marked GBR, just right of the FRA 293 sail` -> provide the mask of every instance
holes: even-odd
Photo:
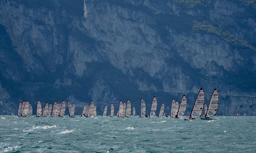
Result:
[[[205,117],[209,118],[211,116],[216,115],[218,106],[219,106],[219,92],[217,91],[217,89],[214,89],[214,91],[212,92],[212,97],[209,102]]]

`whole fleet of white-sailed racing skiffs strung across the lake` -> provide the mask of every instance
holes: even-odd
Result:
[[[118,112],[116,113],[116,117],[131,117],[132,115],[135,116],[135,107],[131,107],[131,101],[127,99],[127,103],[123,103],[121,100],[119,102],[119,108]],[[184,120],[194,120],[196,118],[201,117],[201,114],[203,112],[203,107],[204,107],[204,115],[201,117],[202,120],[215,120],[210,117],[216,115],[217,109],[219,106],[219,92],[217,89],[214,89],[212,92],[212,97],[210,99],[209,105],[204,103],[204,90],[201,88],[200,91],[197,94],[194,106],[192,108],[192,111],[190,113],[189,118],[185,118]],[[150,108],[150,113],[149,113],[149,118],[152,118],[156,115],[156,108],[157,108],[157,99],[154,96],[152,103],[151,103],[151,108]],[[184,116],[184,113],[187,108],[187,97],[183,95],[180,104],[178,101],[175,101],[172,99],[172,106],[171,106],[171,112],[170,116],[166,117],[171,117],[171,118],[180,118]],[[68,113],[70,117],[73,117],[75,115],[75,110],[76,106],[75,104],[71,104],[68,101]],[[105,105],[104,112],[101,116],[106,116],[108,110],[108,106]],[[44,108],[42,109],[41,102],[38,100],[37,101],[37,107],[36,107],[36,117],[47,117],[47,116],[52,116],[52,117],[61,117],[65,114],[66,111],[66,102],[63,100],[62,103],[57,103],[54,101],[53,107],[52,104],[48,105],[48,103],[45,104]],[[52,115],[51,115],[52,114]],[[29,104],[28,101],[23,101],[23,103],[20,102],[19,108],[18,108],[18,113],[17,116],[30,116],[32,115],[32,106]],[[81,114],[82,117],[90,117],[90,116],[96,116],[96,105],[94,104],[94,101],[92,100],[91,103],[87,106],[84,105],[83,112]],[[164,113],[164,103],[161,105],[161,109],[159,111],[159,114],[157,117],[161,117],[165,115]],[[114,116],[114,105],[111,103],[110,107],[110,117]],[[146,114],[146,103],[143,98],[140,99],[140,116],[139,117],[148,117]]]

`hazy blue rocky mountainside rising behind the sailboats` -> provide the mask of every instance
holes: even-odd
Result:
[[[29,100],[105,104],[172,98],[202,87],[218,115],[256,115],[256,2],[0,1],[0,114]],[[7,109],[5,109],[7,108]],[[115,113],[116,113],[115,112]]]

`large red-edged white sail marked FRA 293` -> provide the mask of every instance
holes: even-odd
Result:
[[[201,88],[197,94],[196,101],[194,103],[189,119],[195,119],[200,117],[203,111],[203,106],[204,106],[204,90]]]

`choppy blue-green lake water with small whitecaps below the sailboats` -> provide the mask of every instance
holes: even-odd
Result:
[[[256,152],[256,117],[0,116],[2,152]]]

